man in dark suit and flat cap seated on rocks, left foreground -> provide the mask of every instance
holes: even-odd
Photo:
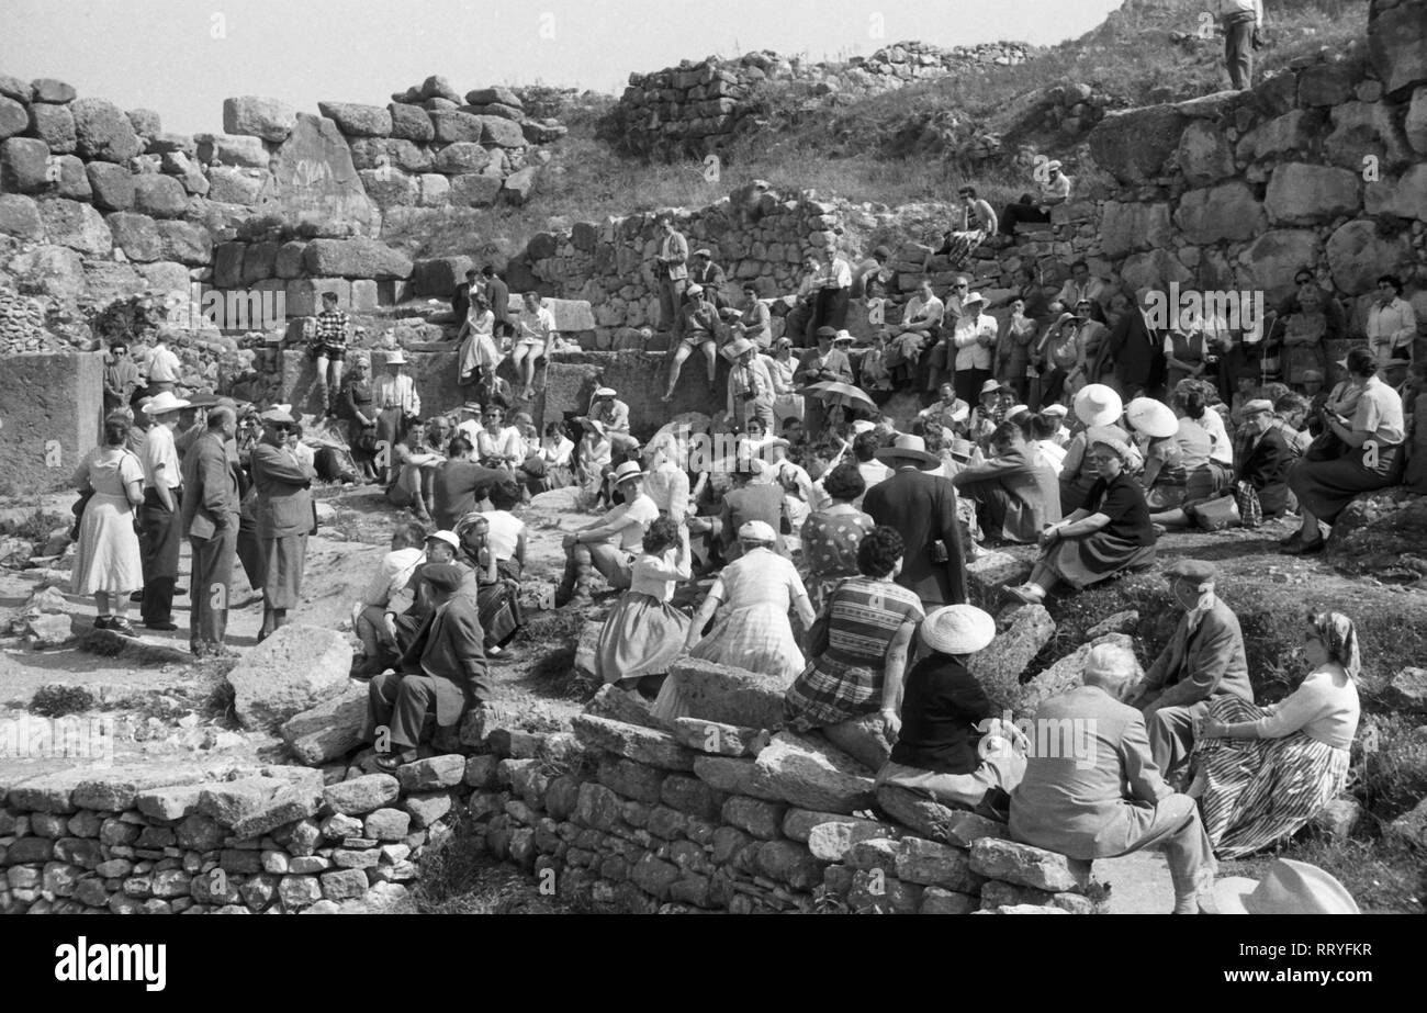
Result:
[[[382,770],[415,760],[417,745],[431,729],[457,725],[467,708],[491,696],[477,605],[459,594],[465,575],[448,562],[427,564],[421,575],[435,609],[402,652],[397,671],[367,686],[362,739],[382,753],[377,759]]]

